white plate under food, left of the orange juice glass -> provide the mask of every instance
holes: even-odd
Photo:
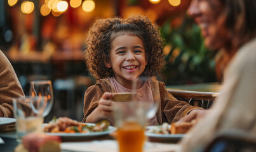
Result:
[[[84,123],[87,125],[95,125],[91,123]],[[106,134],[110,134],[111,132],[116,131],[116,127],[109,126],[109,128],[102,132],[77,132],[77,133],[63,133],[63,132],[46,132],[46,134],[51,136],[60,136],[64,138],[74,138],[74,137],[96,137],[96,136],[103,136]]]

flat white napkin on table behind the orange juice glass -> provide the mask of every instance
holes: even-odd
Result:
[[[61,143],[60,148],[63,151],[85,151],[85,152],[113,152],[118,151],[118,143],[114,140],[90,141],[90,142],[71,142]],[[146,142],[145,152],[171,152],[179,151],[180,144],[152,143]]]

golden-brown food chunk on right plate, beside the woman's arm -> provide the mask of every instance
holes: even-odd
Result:
[[[174,122],[171,125],[171,134],[185,134],[196,124],[196,120],[192,122]]]

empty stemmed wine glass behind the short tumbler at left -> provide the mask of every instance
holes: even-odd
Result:
[[[29,95],[39,96],[46,101],[43,117],[46,117],[53,107],[53,88],[50,80],[35,80],[30,82]]]

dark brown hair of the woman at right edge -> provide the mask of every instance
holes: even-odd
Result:
[[[219,0],[224,3],[226,28],[240,47],[256,36],[256,0]]]

